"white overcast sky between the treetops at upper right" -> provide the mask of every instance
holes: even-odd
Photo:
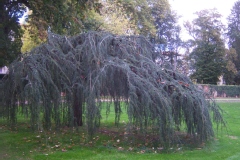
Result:
[[[237,0],[169,0],[169,3],[172,9],[175,10],[179,16],[182,16],[179,19],[179,24],[181,26],[183,22],[191,22],[196,18],[195,12],[213,8],[216,8],[223,16],[222,22],[226,25],[226,18],[230,15],[231,9],[236,1]],[[184,32],[184,28],[182,28],[182,31]]]

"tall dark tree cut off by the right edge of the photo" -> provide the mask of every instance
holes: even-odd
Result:
[[[237,54],[232,62],[237,69],[237,74],[234,79],[231,80],[232,84],[240,84],[240,1],[236,1],[231,14],[228,17],[228,31],[227,35],[229,38],[229,48],[234,48]]]

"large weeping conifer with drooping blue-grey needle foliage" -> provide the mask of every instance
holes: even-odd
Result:
[[[1,116],[15,124],[21,110],[33,129],[86,125],[93,135],[103,101],[114,104],[116,125],[126,106],[127,137],[151,134],[162,144],[174,142],[179,128],[198,141],[210,140],[211,117],[224,123],[219,107],[141,36],[49,32],[47,43],[10,65],[0,91]]]

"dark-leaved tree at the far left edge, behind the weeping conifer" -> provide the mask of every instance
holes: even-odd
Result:
[[[10,64],[21,53],[23,32],[18,18],[24,11],[25,6],[18,1],[0,2],[0,67]]]

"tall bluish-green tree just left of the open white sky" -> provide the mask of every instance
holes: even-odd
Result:
[[[171,10],[166,0],[149,1],[151,15],[154,18],[156,35],[151,39],[155,43],[156,50],[163,54],[166,60],[171,62],[174,69],[177,68],[178,49],[181,45],[180,26],[177,24],[177,14]]]

